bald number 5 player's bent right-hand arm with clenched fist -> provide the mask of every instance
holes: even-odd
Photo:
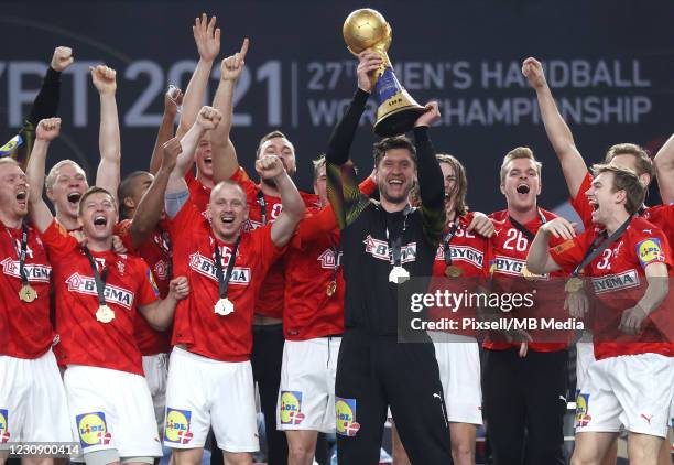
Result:
[[[283,209],[281,215],[272,225],[271,238],[276,247],[285,246],[293,234],[295,226],[304,216],[304,201],[295,187],[293,180],[287,175],[281,159],[276,155],[262,155],[256,161],[256,171],[261,179],[273,180],[279,194],[281,195],[281,204]]]

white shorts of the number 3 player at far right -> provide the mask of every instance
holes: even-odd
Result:
[[[576,399],[576,432],[666,437],[674,359],[659,354],[611,357],[590,365]]]

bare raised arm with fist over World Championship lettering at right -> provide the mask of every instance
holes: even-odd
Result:
[[[532,57],[526,58],[522,64],[522,74],[526,76],[529,85],[536,91],[547,139],[562,164],[568,193],[575,198],[587,173],[587,164],[576,148],[574,134],[557,109],[541,63]]]

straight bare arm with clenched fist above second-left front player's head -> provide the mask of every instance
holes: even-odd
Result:
[[[98,150],[100,163],[96,172],[96,185],[110,192],[117,198],[120,180],[121,141],[117,115],[117,72],[104,65],[91,68],[91,80],[100,96],[100,130]]]

